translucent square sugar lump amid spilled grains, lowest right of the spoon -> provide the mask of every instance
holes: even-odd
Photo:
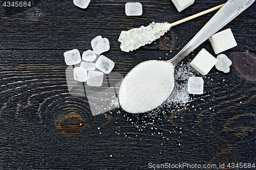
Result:
[[[187,91],[190,94],[203,94],[204,80],[201,77],[189,77],[187,82]]]

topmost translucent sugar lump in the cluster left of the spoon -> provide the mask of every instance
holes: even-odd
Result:
[[[108,38],[102,38],[100,35],[91,41],[91,45],[95,54],[101,54],[110,50]]]

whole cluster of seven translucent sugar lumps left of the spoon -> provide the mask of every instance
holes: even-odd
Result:
[[[91,41],[92,50],[87,50],[81,56],[77,49],[65,52],[64,58],[67,65],[74,65],[80,63],[80,67],[74,68],[74,79],[80,82],[87,82],[89,86],[99,87],[103,82],[103,74],[110,74],[115,66],[114,61],[100,55],[103,52],[110,50],[110,43],[107,38],[101,36],[95,37]],[[93,61],[100,55],[96,63]],[[95,71],[98,68],[100,71]]]

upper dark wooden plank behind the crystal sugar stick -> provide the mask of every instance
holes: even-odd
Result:
[[[70,1],[40,1],[25,11],[15,13],[7,10],[7,7],[4,9],[1,7],[3,10],[0,10],[2,23],[0,48],[86,50],[91,48],[90,41],[94,37],[102,35],[110,39],[112,50],[118,50],[120,43],[117,39],[123,30],[141,25],[147,26],[152,21],[174,22],[224,2],[214,1],[204,4],[204,1],[198,1],[193,7],[178,13],[170,1],[161,3],[147,1],[142,3],[144,13],[139,17],[125,16],[123,9],[125,1],[94,1],[84,10],[75,7]],[[152,9],[157,11],[154,12]],[[246,50],[255,51],[256,44],[252,41],[256,35],[254,11],[253,4],[224,28],[231,28],[237,38],[239,45],[233,50],[240,51],[241,48],[246,48]],[[174,36],[180,40],[176,42],[176,49],[181,50],[182,43],[191,39],[214,14],[215,12],[212,12],[175,26],[172,29]],[[244,41],[250,43],[244,45]],[[157,50],[155,46],[149,48]]]

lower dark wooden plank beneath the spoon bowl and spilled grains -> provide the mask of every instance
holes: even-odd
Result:
[[[195,96],[186,109],[164,107],[139,115],[115,109],[92,116],[86,97],[69,94],[63,52],[1,51],[2,168],[140,169],[151,162],[204,164],[227,157],[227,161],[255,161],[252,149],[244,148],[254,145],[255,79],[239,74],[239,53],[225,53],[233,62],[230,72],[211,70],[204,78],[206,93]],[[170,54],[110,51],[105,55],[115,59],[113,71],[125,75],[148,57],[169,59]],[[248,55],[245,58],[255,59],[255,54]],[[255,64],[249,67],[255,69]],[[255,72],[251,76],[255,78]],[[66,129],[77,123],[76,115],[82,118],[77,135],[60,132],[59,122],[67,115],[73,119],[67,120],[72,122]]]

